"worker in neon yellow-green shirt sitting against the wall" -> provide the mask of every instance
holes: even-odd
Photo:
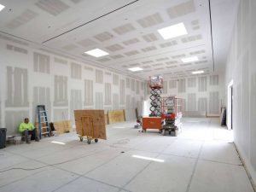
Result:
[[[30,143],[29,135],[31,135],[31,140],[39,142],[38,133],[34,125],[32,125],[32,123],[29,123],[28,118],[25,118],[24,123],[20,124],[19,131],[22,133],[22,136],[25,137],[26,143]]]

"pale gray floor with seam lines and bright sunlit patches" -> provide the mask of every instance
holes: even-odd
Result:
[[[72,132],[1,149],[0,191],[253,192],[218,119],[183,118],[178,137],[133,125],[108,125],[90,145]]]

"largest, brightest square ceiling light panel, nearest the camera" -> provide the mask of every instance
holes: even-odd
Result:
[[[165,28],[161,28],[157,30],[162,38],[169,39],[169,38],[177,38],[179,36],[187,35],[188,32],[183,23],[178,23],[173,26],[167,26]]]

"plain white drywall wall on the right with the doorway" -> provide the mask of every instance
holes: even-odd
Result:
[[[236,146],[256,183],[256,1],[240,1],[226,66],[226,96],[233,79]],[[227,99],[227,98],[226,98]],[[229,116],[228,116],[229,117]],[[230,119],[228,119],[230,120]]]

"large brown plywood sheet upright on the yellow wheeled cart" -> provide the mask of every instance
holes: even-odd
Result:
[[[74,110],[74,116],[80,136],[107,139],[104,110]]]

